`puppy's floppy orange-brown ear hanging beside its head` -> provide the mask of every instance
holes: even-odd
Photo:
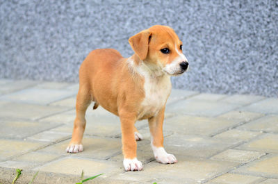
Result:
[[[129,37],[129,44],[133,51],[139,56],[140,60],[145,60],[145,58],[147,58],[149,38],[151,36],[152,33],[150,33],[149,30],[144,30]]]

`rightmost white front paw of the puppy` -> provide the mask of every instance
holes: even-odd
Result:
[[[160,148],[153,147],[153,151],[154,151],[154,157],[156,158],[156,161],[160,163],[173,164],[178,161],[174,155],[168,154],[163,147]]]

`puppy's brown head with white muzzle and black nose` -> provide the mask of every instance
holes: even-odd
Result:
[[[156,25],[129,38],[136,55],[151,69],[170,75],[183,74],[188,60],[182,53],[182,42],[168,26]]]

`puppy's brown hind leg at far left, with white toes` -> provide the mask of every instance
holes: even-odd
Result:
[[[83,151],[82,138],[85,131],[85,112],[92,101],[88,87],[80,86],[76,97],[76,118],[74,120],[74,130],[72,140],[67,147],[68,153],[79,153]]]

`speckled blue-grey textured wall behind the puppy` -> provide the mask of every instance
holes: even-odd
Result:
[[[174,87],[278,94],[278,1],[0,1],[0,77],[78,81],[93,49],[133,51],[128,38],[172,26],[190,71]]]

